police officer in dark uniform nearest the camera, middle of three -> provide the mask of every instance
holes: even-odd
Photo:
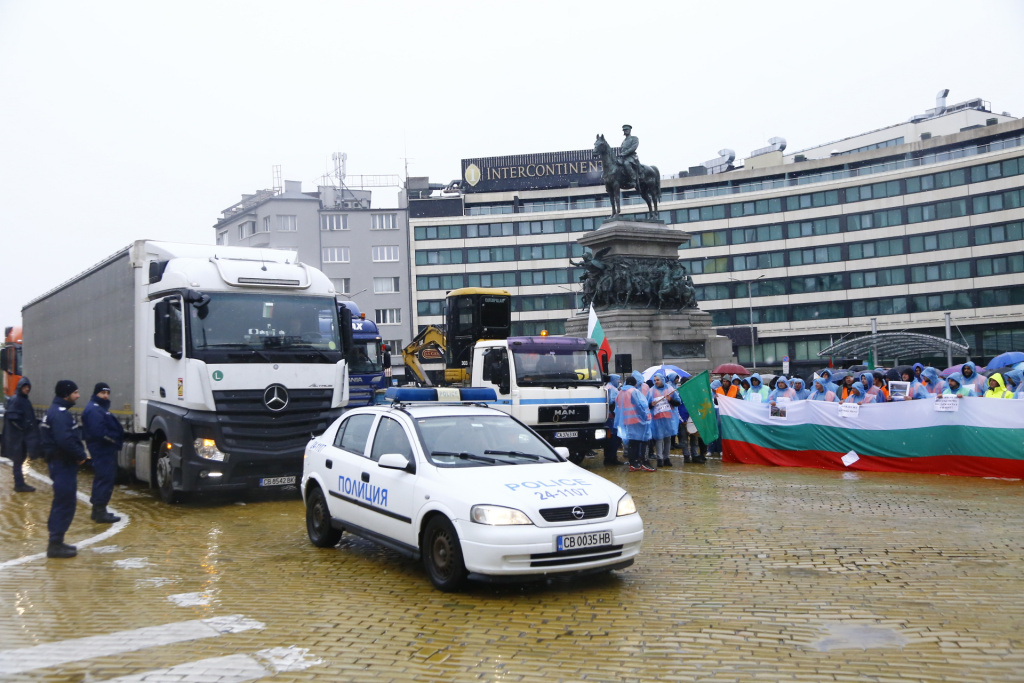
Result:
[[[63,535],[75,518],[78,493],[78,466],[88,460],[82,445],[81,428],[69,410],[78,400],[78,385],[71,380],[60,380],[54,389],[53,402],[39,425],[40,444],[50,478],[53,479],[53,504],[47,528],[50,542],[47,557],[75,557],[78,549],[63,542]]]

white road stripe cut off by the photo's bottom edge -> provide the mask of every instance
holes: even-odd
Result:
[[[262,663],[261,663],[262,661]],[[324,660],[309,655],[304,647],[274,647],[255,654],[230,654],[189,661],[168,669],[156,669],[144,674],[122,676],[105,683],[244,683],[287,671],[302,671]]]

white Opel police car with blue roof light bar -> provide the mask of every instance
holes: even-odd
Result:
[[[345,413],[306,446],[302,497],[313,545],[355,533],[422,558],[442,591],[467,578],[633,563],[643,521],[632,497],[486,408],[494,389],[392,387],[386,398],[392,404]]]

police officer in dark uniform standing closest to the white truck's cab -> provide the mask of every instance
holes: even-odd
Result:
[[[124,443],[125,430],[118,419],[111,415],[111,387],[99,382],[92,390],[92,398],[82,412],[82,433],[92,458],[92,521],[112,524],[121,517],[109,512],[106,504],[114,492],[118,473],[118,452]]]

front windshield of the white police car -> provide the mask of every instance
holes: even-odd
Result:
[[[438,467],[493,467],[557,463],[536,434],[507,416],[417,418],[427,459]]]

